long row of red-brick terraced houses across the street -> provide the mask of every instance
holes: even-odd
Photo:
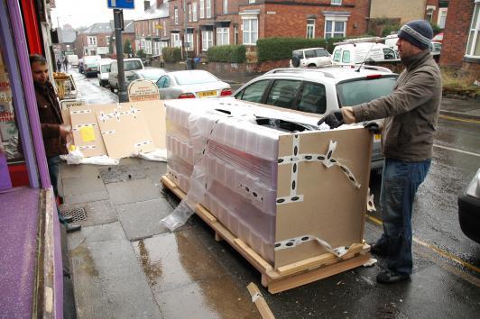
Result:
[[[157,0],[153,5],[146,3],[148,9],[144,16],[135,21],[139,47],[152,51],[155,56],[155,45],[159,49],[166,45],[182,47],[185,41],[186,50],[199,56],[214,45],[245,44],[254,50],[256,41],[265,37],[331,38],[365,34],[370,1]],[[166,7],[168,14],[163,11]],[[160,27],[155,23],[160,23]],[[159,41],[160,44],[155,43]]]

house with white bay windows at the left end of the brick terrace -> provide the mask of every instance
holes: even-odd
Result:
[[[144,50],[147,59],[160,59],[162,48],[171,41],[169,22],[169,2],[157,0],[153,5],[145,1],[142,17],[134,21],[135,46]]]

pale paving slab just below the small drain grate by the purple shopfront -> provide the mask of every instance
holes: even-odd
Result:
[[[83,242],[108,242],[126,240],[124,229],[118,222],[105,223],[96,226],[82,227],[79,232],[68,234],[69,251],[72,251]]]

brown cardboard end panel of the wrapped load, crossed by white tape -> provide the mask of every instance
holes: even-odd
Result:
[[[275,242],[305,235],[318,237],[333,248],[362,242],[370,177],[371,133],[362,128],[302,132],[298,134],[297,144],[293,136],[280,136],[279,159],[295,158],[294,145],[297,145],[299,160],[279,163],[277,198],[293,194],[300,199],[277,205]],[[359,188],[338,166],[326,168],[321,161],[302,160],[309,154],[327,154],[330,141],[337,141],[332,158],[350,169],[360,184]],[[295,163],[296,178],[292,173]],[[274,264],[281,267],[325,251],[318,242],[302,242],[275,251]]]

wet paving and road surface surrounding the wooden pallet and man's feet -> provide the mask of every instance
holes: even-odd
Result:
[[[90,103],[115,102],[96,79],[82,77],[76,75],[77,85]],[[414,203],[413,275],[396,286],[375,282],[379,259],[371,268],[271,295],[260,274],[226,242],[216,242],[197,216],[176,232],[160,225],[178,205],[159,182],[165,163],[125,159],[110,170],[62,163],[61,209],[84,208],[87,215],[81,232],[68,235],[78,317],[258,318],[246,290],[252,281],[277,318],[477,316],[480,245],[457,221],[457,194],[480,162],[480,122],[468,121],[439,120],[429,176]],[[371,186],[377,202],[380,178]],[[365,223],[367,242],[382,232],[376,204],[379,211]]]

